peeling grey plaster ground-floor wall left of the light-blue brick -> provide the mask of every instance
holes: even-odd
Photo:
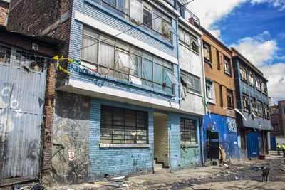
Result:
[[[90,97],[58,91],[53,121],[53,180],[59,183],[88,181]],[[75,159],[68,161],[68,151]]]

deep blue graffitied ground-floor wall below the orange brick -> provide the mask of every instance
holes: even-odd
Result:
[[[226,153],[227,159],[230,157],[231,160],[239,160],[240,151],[239,151],[239,134],[237,132],[232,132],[229,130],[227,125],[227,119],[235,119],[232,117],[226,117],[223,115],[216,115],[211,113],[211,119],[208,115],[204,116],[204,123],[203,123],[203,147],[204,147],[204,162],[207,162],[207,130],[210,130],[209,127],[212,126],[213,122],[216,122],[214,125],[213,132],[219,132],[219,145],[223,145]]]

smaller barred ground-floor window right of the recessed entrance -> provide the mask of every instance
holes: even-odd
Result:
[[[181,144],[197,144],[196,120],[180,118]]]

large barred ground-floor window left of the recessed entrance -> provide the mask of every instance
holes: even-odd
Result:
[[[100,143],[147,144],[147,112],[102,105]]]

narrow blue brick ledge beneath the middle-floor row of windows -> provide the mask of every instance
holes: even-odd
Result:
[[[79,73],[81,74],[84,74],[84,75],[90,75],[92,77],[97,77],[97,78],[102,78],[102,79],[106,79],[106,80],[111,80],[113,82],[117,82],[117,83],[123,83],[124,85],[130,85],[130,86],[133,86],[135,88],[140,88],[142,90],[148,90],[148,91],[151,91],[153,93],[158,93],[158,94],[162,94],[162,95],[166,95],[168,97],[174,97],[174,95],[170,94],[170,93],[166,93],[162,90],[157,90],[155,88],[150,88],[150,87],[147,87],[147,86],[144,86],[144,85],[138,85],[138,84],[135,84],[135,83],[132,83],[132,82],[129,82],[129,81],[126,81],[126,80],[121,80],[119,78],[113,78],[113,77],[110,77],[108,75],[100,75],[98,73],[95,73],[93,71],[89,71],[89,70],[84,70],[84,69],[81,69],[79,68],[77,65],[73,65],[73,68],[74,67],[77,67],[76,69],[79,70]]]

